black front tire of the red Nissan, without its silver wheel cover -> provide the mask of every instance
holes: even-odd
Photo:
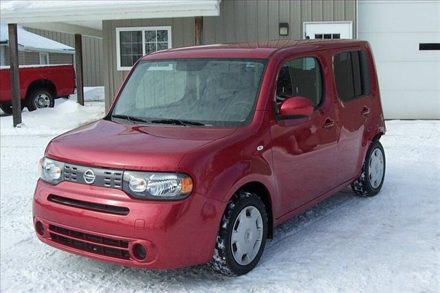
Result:
[[[232,252],[232,232],[236,228],[234,226],[238,226],[236,224],[236,220],[241,211],[252,207],[256,208],[261,214],[261,219],[263,222],[263,235],[261,237],[259,251],[256,253],[254,259],[247,265],[241,265],[234,259]],[[239,191],[234,195],[230,202],[228,202],[225,213],[223,214],[219,235],[217,237],[217,243],[215,245],[214,256],[210,261],[211,268],[227,276],[240,276],[242,274],[247,274],[250,272],[250,270],[255,268],[256,264],[261,259],[261,255],[263,254],[265,248],[266,239],[267,213],[263,202],[255,193]]]

